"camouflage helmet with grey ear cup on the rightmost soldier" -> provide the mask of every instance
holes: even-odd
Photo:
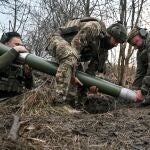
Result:
[[[134,27],[128,34],[127,41],[131,44],[131,40],[136,36],[140,35],[142,38],[145,38],[147,35],[147,29],[140,28],[140,27]]]

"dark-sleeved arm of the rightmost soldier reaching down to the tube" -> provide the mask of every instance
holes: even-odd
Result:
[[[147,69],[145,66],[143,66],[141,62],[141,58],[139,56],[139,53],[137,53],[137,70],[134,82],[132,84],[132,88],[135,90],[140,90],[142,86],[142,80],[144,76],[146,75]]]

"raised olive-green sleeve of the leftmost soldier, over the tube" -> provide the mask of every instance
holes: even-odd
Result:
[[[10,65],[13,60],[19,55],[14,49],[4,53],[0,56],[0,71]]]

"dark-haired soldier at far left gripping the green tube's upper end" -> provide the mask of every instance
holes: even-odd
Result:
[[[33,76],[28,65],[15,63],[19,53],[27,52],[17,32],[7,32],[1,42],[12,49],[0,56],[0,98],[1,100],[21,94],[24,87],[31,89]]]

